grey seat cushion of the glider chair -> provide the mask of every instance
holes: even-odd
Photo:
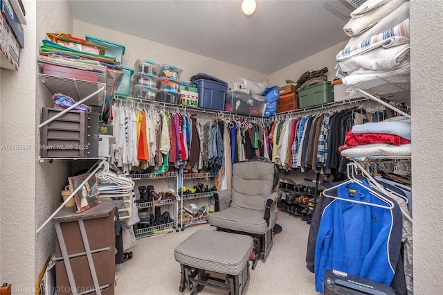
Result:
[[[263,216],[264,211],[229,207],[224,211],[210,213],[208,223],[233,231],[264,234],[268,229],[268,224]]]

